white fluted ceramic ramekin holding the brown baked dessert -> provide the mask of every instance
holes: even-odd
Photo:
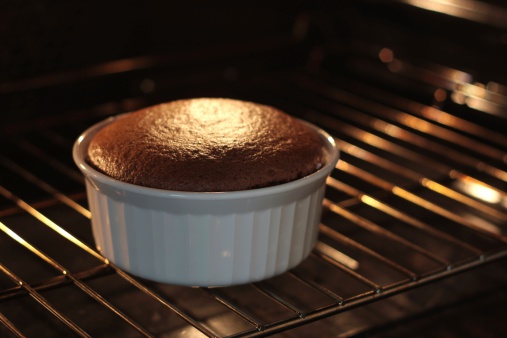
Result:
[[[85,161],[93,136],[116,118],[87,129],[73,148],[83,172],[98,250],[125,271],[188,286],[228,286],[266,279],[299,264],[318,234],[325,181],[339,151],[325,143],[327,164],[273,187],[219,193],[146,188],[108,177]]]

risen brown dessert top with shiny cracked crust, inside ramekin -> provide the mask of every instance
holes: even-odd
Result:
[[[325,164],[324,148],[314,129],[276,108],[198,98],[116,119],[93,137],[87,161],[135,185],[225,192],[307,176]]]

